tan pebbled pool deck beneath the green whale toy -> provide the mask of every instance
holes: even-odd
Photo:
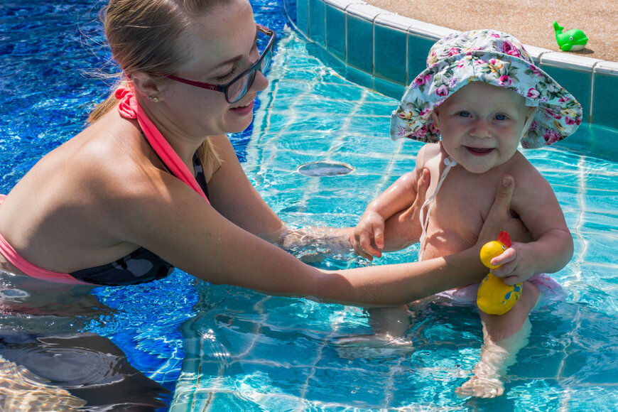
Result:
[[[579,28],[588,43],[583,50],[568,52],[618,62],[616,29],[618,1],[585,2],[538,0],[365,0],[400,16],[458,31],[494,28],[511,33],[524,44],[559,52],[553,22],[565,31]],[[575,9],[575,5],[578,7]],[[572,8],[573,7],[573,8]]]

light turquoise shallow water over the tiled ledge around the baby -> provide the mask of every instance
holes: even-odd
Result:
[[[293,226],[353,225],[364,207],[413,167],[422,143],[391,141],[396,101],[342,79],[320,50],[287,32],[260,95],[244,169],[266,202]],[[525,151],[553,186],[575,239],[555,274],[568,290],[531,315],[533,331],[499,399],[453,390],[479,359],[482,332],[471,308],[418,305],[412,347],[345,347],[371,333],[360,308],[200,285],[183,325],[185,364],[173,411],[406,410],[606,411],[618,404],[617,131],[582,126],[551,148]],[[590,142],[597,152],[590,152]],[[347,175],[311,177],[305,163],[345,163]],[[315,251],[295,251],[299,256]],[[318,250],[318,253],[320,250]],[[416,246],[376,264],[416,259]],[[368,264],[327,258],[329,269]]]

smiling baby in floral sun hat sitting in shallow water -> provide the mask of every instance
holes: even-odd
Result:
[[[502,176],[522,183],[516,185],[511,211],[526,226],[530,242],[514,242],[492,260],[502,264],[492,272],[507,284],[524,282],[521,298],[504,315],[481,311],[481,360],[474,376],[457,388],[464,396],[500,396],[501,376],[527,343],[528,313],[539,291],[560,290],[542,273],[563,269],[573,256],[573,239],[553,190],[517,149],[520,143],[538,148],[564,139],[577,129],[582,109],[533,64],[519,40],[506,33],[452,34],[433,45],[427,66],[391,116],[391,136],[431,144],[418,152],[412,172],[369,204],[354,231],[354,249],[371,259],[413,239],[401,229],[389,238],[386,221],[412,205],[425,169],[430,186],[421,211],[421,260],[475,244]],[[474,305],[477,288],[445,291],[438,299]]]

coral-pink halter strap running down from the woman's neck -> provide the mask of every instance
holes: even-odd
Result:
[[[118,112],[120,112],[120,115],[125,119],[137,119],[141,131],[143,131],[144,136],[146,136],[148,143],[150,143],[154,151],[170,169],[172,174],[193,188],[204,200],[210,203],[204,194],[204,190],[200,188],[197,180],[195,180],[193,173],[190,173],[185,163],[180,160],[178,154],[176,154],[172,146],[170,146],[170,143],[168,143],[166,138],[163,137],[161,132],[158,131],[153,122],[148,119],[148,116],[143,112],[133,91],[129,87],[121,86],[116,90],[116,99],[120,100],[118,104]]]

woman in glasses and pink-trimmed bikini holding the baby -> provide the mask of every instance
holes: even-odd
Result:
[[[225,136],[249,125],[268,84],[262,71],[272,41],[260,56],[256,38],[275,35],[256,25],[246,0],[112,0],[105,32],[126,78],[90,126],[41,159],[2,202],[0,269],[119,285],[161,278],[173,265],[210,283],[364,306],[407,303],[482,278],[477,247],[330,272],[270,243],[291,232]],[[511,189],[501,189],[506,198],[479,244],[506,224]],[[394,219],[416,222],[408,215],[416,208]]]

